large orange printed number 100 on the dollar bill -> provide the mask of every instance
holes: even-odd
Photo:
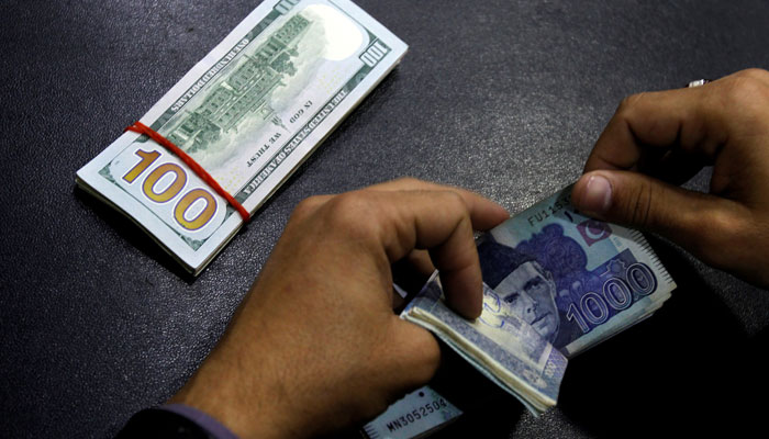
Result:
[[[136,155],[142,158],[142,160],[123,176],[123,180],[127,181],[129,184],[133,184],[134,181],[160,157],[160,153],[156,150],[147,153],[138,149],[136,150]],[[165,188],[160,188],[156,191],[157,183],[161,179],[168,180],[166,177],[168,175],[172,175],[172,177],[170,177],[170,183],[165,184]],[[187,172],[185,169],[176,164],[165,164],[158,166],[147,175],[144,179],[144,183],[142,183],[142,193],[151,201],[163,204],[176,199],[179,192],[185,189],[186,183]],[[205,203],[205,207],[201,209],[194,217],[188,219],[187,213],[190,211],[190,207],[200,205],[200,203]],[[214,213],[216,213],[216,200],[207,190],[200,188],[187,191],[176,203],[176,206],[174,206],[174,218],[188,230],[197,230],[203,227],[211,221]]]

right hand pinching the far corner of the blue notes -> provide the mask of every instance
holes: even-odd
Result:
[[[710,193],[678,188],[709,165]],[[584,172],[577,209],[769,286],[769,72],[625,99]]]

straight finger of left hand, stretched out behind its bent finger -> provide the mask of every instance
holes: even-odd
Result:
[[[450,191],[457,193],[467,204],[471,213],[472,227],[477,230],[488,230],[510,217],[504,207],[484,196],[449,185],[437,184],[414,178],[401,178],[384,183],[375,184],[365,190],[374,191]]]

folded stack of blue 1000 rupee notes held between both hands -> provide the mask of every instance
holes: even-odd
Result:
[[[570,193],[478,238],[479,318],[445,305],[437,273],[401,314],[534,414],[556,404],[567,358],[650,316],[676,289],[639,232],[580,215]]]

